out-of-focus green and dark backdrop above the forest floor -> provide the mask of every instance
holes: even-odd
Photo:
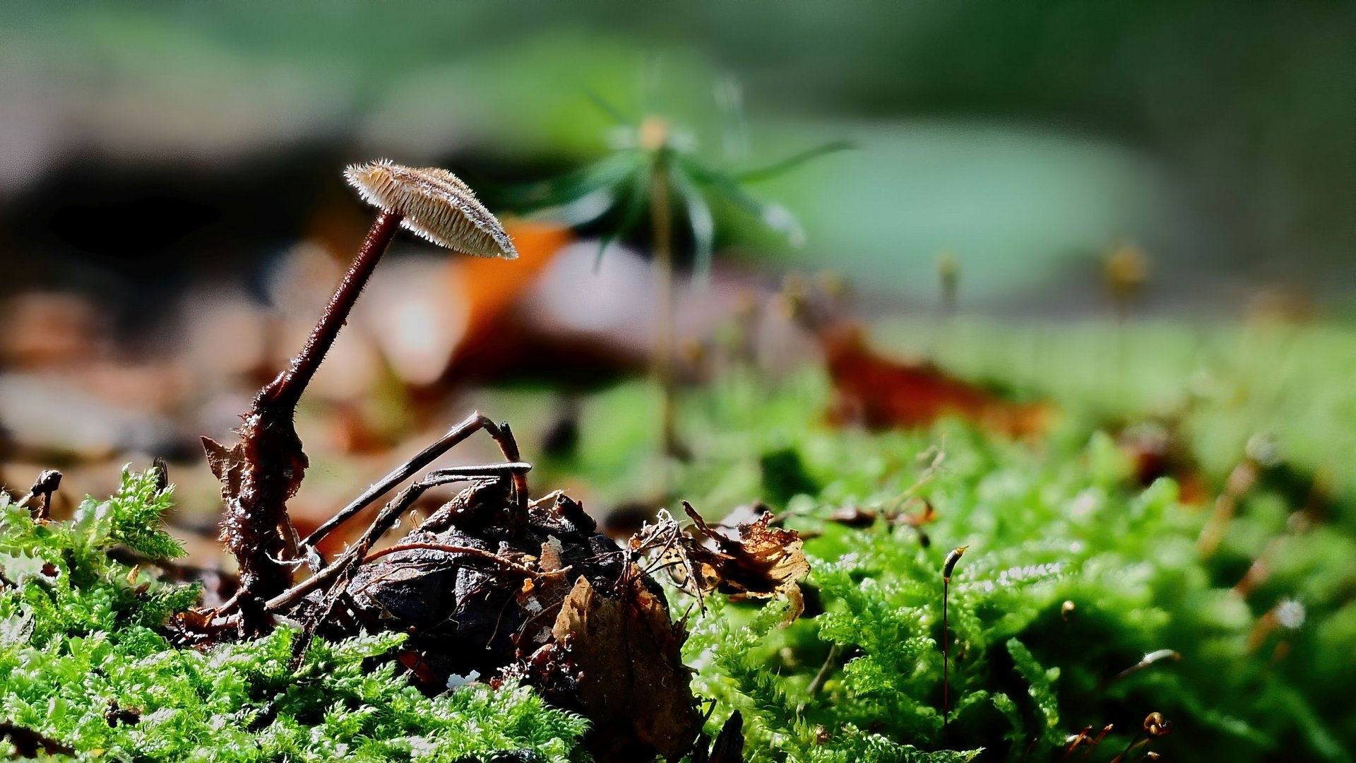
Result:
[[[1163,307],[1341,310],[1353,33],[1351,3],[5,3],[0,267],[136,292],[248,261],[373,155],[494,201],[605,149],[597,94],[732,167],[856,143],[758,189],[807,244],[744,257],[930,300],[949,250],[970,307],[1060,314],[1132,242]]]

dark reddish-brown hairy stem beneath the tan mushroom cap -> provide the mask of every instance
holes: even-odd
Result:
[[[259,635],[271,629],[264,603],[292,585],[293,567],[286,559],[296,551],[296,538],[286,504],[301,486],[308,466],[293,426],[297,402],[395,238],[401,217],[397,212],[382,212],[377,217],[306,345],[259,391],[244,415],[240,443],[222,467],[228,472],[240,470],[239,489],[226,501],[221,540],[240,567],[240,626],[245,634]]]

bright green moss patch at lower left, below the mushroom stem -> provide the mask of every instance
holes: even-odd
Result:
[[[174,648],[160,626],[198,592],[107,555],[117,544],[180,554],[159,529],[170,501],[153,474],[125,472],[111,500],[39,524],[0,494],[9,581],[0,589],[0,718],[80,759],[450,762],[509,749],[572,759],[584,721],[525,687],[475,684],[430,699],[395,663],[374,668],[401,634],[317,639],[296,672],[293,629],[205,652]]]

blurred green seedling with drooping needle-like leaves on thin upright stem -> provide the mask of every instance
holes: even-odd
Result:
[[[727,88],[728,90],[728,88]],[[616,122],[612,151],[557,181],[536,187],[529,205],[555,209],[571,224],[584,224],[614,213],[598,247],[598,263],[607,247],[635,231],[650,213],[650,248],[658,274],[652,368],[663,391],[663,448],[687,458],[674,426],[674,247],[677,227],[692,239],[698,281],[711,273],[717,235],[713,210],[734,208],[782,235],[792,246],[804,242],[796,217],[778,204],[762,201],[744,187],[789,172],[805,162],[842,151],[845,141],[819,145],[749,171],[727,171],[702,159],[689,130],[658,114],[629,119],[594,98]]]

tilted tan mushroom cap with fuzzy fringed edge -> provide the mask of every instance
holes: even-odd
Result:
[[[350,164],[343,176],[363,201],[404,215],[401,225],[438,246],[476,257],[518,257],[499,220],[461,178],[446,170],[378,159]]]

